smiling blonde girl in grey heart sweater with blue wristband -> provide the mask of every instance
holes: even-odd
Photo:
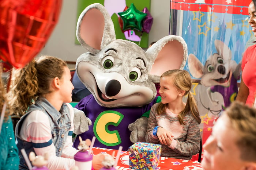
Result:
[[[160,77],[162,101],[151,108],[146,142],[161,144],[161,157],[189,160],[199,152],[201,119],[191,87],[186,70],[169,70]],[[182,101],[185,95],[187,103]]]

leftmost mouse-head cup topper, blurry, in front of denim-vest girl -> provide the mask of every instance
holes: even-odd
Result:
[[[48,161],[48,153],[45,153],[44,156],[37,155],[35,156],[34,152],[29,153],[29,160],[32,162],[33,170],[49,170],[45,165]]]

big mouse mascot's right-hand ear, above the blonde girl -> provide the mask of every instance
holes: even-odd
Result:
[[[183,69],[188,58],[188,47],[181,36],[168,35],[149,47],[146,55],[153,64],[150,74],[161,76],[167,70]]]

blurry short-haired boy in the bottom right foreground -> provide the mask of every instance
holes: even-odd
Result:
[[[234,101],[203,145],[204,170],[256,170],[256,110]]]

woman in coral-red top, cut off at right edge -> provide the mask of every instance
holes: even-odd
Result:
[[[252,32],[256,36],[256,0],[253,0],[248,7],[249,24]],[[256,42],[256,41],[255,41]],[[240,88],[236,97],[237,101],[241,101],[249,106],[253,106],[256,95],[256,45],[248,47],[242,58],[242,77]]]

